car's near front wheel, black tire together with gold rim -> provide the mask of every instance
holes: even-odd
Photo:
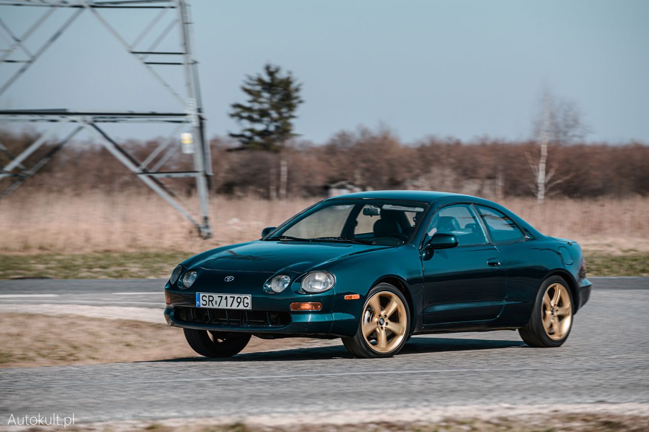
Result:
[[[367,294],[354,337],[343,337],[343,345],[355,357],[392,357],[408,341],[410,308],[396,287],[379,283]]]

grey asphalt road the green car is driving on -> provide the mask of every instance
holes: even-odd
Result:
[[[591,301],[576,315],[561,348],[528,348],[517,332],[498,331],[413,337],[391,359],[353,359],[342,346],[329,346],[225,360],[1,369],[0,422],[10,414],[36,413],[74,413],[77,422],[92,422],[501,403],[647,403],[649,278],[593,282]],[[1,281],[0,302],[15,304],[15,295],[32,294],[23,300],[115,304],[112,293],[130,292],[141,293],[129,296],[145,303],[138,306],[159,307],[154,293],[161,287],[160,280]],[[37,297],[45,294],[56,296]]]

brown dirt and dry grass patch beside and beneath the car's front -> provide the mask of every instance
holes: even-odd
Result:
[[[198,357],[182,329],[132,320],[0,315],[0,368],[92,365]],[[243,352],[283,350],[334,344],[319,339],[252,337]]]

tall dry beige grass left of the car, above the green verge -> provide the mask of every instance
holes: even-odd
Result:
[[[258,239],[315,200],[213,199],[214,237],[202,240],[190,222],[158,195],[14,195],[0,202],[1,252],[199,251]],[[198,208],[194,201],[186,208]]]

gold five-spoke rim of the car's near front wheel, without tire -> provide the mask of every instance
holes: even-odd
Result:
[[[406,337],[406,306],[397,294],[383,291],[374,294],[363,313],[363,337],[376,352],[391,352]]]

